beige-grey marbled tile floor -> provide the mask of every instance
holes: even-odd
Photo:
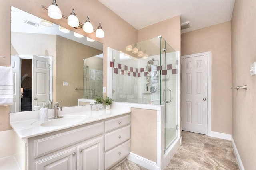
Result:
[[[114,170],[146,170],[125,160]],[[231,141],[182,131],[182,145],[164,170],[239,170]]]

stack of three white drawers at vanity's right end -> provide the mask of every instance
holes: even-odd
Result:
[[[105,170],[112,168],[130,153],[130,115],[117,117],[105,124]]]

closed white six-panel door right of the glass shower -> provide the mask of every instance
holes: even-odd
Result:
[[[182,130],[207,135],[207,55],[182,57]]]

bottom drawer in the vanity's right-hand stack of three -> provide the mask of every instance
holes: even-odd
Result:
[[[130,140],[105,153],[105,169],[110,168],[130,153]]]

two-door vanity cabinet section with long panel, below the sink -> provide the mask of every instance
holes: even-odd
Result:
[[[28,139],[28,170],[104,169],[104,122]]]

